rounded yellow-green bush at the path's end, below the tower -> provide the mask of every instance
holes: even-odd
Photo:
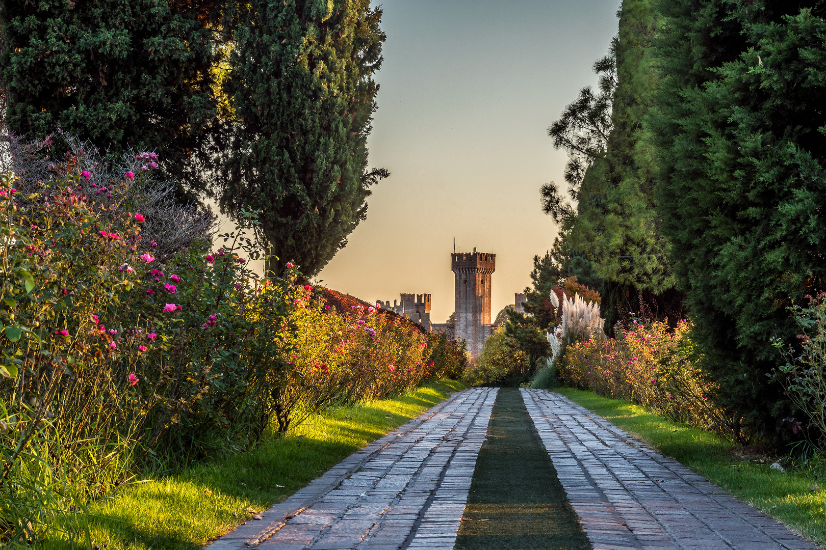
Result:
[[[525,351],[519,349],[505,327],[497,327],[487,337],[482,353],[472,360],[463,373],[463,380],[472,386],[482,384],[518,385],[530,372]]]

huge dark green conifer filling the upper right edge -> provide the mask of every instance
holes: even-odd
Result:
[[[657,209],[720,404],[788,433],[765,376],[823,287],[824,2],[660,2]]]

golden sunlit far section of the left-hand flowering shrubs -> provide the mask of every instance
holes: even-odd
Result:
[[[310,285],[305,291],[291,317],[297,330],[285,335],[292,348],[285,346],[283,359],[292,375],[273,390],[278,430],[331,403],[392,397],[462,369],[463,342],[422,331],[376,306],[342,300],[339,293],[314,292]],[[343,306],[347,302],[353,305]]]

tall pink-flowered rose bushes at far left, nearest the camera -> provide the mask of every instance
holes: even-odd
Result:
[[[273,370],[257,362],[293,309],[289,280],[250,284],[207,243],[165,266],[140,254],[128,186],[98,203],[76,172],[48,195],[0,176],[0,539],[18,543],[135,463],[254,443],[269,390],[250,365]]]

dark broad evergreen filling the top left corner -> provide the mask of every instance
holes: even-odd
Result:
[[[9,129],[154,150],[198,188],[192,160],[217,128],[219,1],[0,0]]]

